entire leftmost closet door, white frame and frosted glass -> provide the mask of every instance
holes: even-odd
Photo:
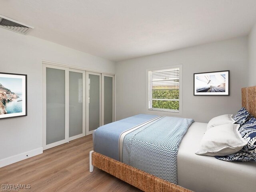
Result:
[[[66,68],[44,68],[44,149],[68,142],[68,72]]]

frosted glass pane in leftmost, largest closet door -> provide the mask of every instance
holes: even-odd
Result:
[[[65,70],[46,68],[46,144],[65,139]]]

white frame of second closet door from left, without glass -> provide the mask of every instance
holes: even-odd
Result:
[[[83,98],[82,98],[82,100],[83,100],[83,109],[82,109],[83,119],[82,119],[82,121],[83,122],[82,122],[82,127],[83,127],[83,129],[82,129],[82,134],[75,135],[75,136],[72,136],[72,137],[69,138],[69,141],[72,141],[72,140],[75,140],[75,139],[78,139],[80,137],[85,136],[85,133],[86,133],[86,78],[85,78],[86,71],[69,68],[68,74],[69,74],[70,71],[71,72],[82,73],[82,78],[83,78],[83,80],[82,80],[82,84],[83,84]],[[68,81],[68,84],[69,84],[69,81]],[[69,92],[68,92],[68,95],[69,95]],[[69,102],[69,100],[68,100],[68,102]],[[68,118],[69,118],[69,116],[68,116]],[[68,132],[69,132],[69,128],[68,128]]]

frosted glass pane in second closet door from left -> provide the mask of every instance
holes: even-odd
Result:
[[[69,137],[83,133],[83,74],[69,72]]]

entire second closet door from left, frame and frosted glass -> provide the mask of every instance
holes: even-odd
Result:
[[[85,71],[69,69],[69,140],[85,136]]]

